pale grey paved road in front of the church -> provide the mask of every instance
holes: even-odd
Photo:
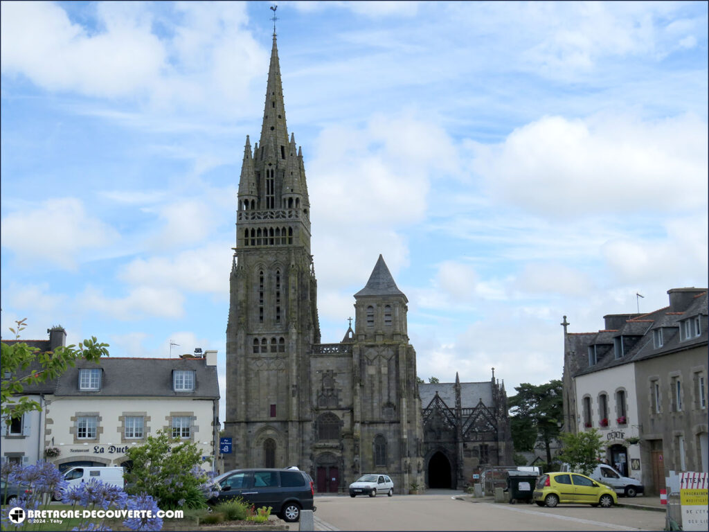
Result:
[[[494,504],[455,499],[461,492],[394,497],[316,496],[316,531],[661,531],[664,514],[564,504]],[[291,531],[298,530],[296,523]]]

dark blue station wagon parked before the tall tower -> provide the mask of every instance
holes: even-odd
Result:
[[[215,477],[211,486],[218,494],[209,504],[241,497],[257,508],[271,506],[274,515],[289,522],[301,519],[301,510],[316,511],[313,479],[300,470],[237,469]]]

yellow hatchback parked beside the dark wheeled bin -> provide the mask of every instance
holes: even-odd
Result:
[[[539,477],[532,498],[539,506],[554,508],[560,502],[591,504],[610,508],[618,504],[613,488],[586,475],[571,472],[547,473]]]

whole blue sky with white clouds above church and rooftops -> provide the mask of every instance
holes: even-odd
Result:
[[[1,4],[1,328],[217,349],[262,2]],[[323,342],[379,253],[418,375],[508,392],[708,277],[705,2],[278,7]]]

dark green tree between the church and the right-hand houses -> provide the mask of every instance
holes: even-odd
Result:
[[[515,387],[516,395],[508,399],[510,431],[515,449],[532,450],[542,440],[547,464],[552,463],[552,441],[559,438],[559,421],[563,414],[562,382],[552,379],[535,386],[523,382]]]

